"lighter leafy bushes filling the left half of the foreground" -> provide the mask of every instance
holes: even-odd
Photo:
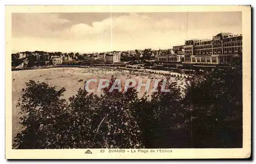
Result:
[[[137,99],[134,90],[104,91],[98,97],[79,89],[67,103],[59,98],[65,88],[56,90],[34,81],[26,85],[17,105],[25,130],[17,134],[13,148],[143,148],[142,132],[131,110]]]

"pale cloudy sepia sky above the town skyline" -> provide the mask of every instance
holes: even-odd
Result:
[[[242,12],[12,13],[12,52],[169,49],[242,34]]]

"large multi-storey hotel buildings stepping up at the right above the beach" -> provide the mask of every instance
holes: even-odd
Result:
[[[242,35],[219,33],[212,39],[186,40],[184,45],[173,46],[173,53],[157,56],[156,61],[194,64],[228,63],[242,55],[242,39]]]

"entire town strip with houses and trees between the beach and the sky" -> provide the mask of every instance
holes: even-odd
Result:
[[[242,59],[242,34],[219,33],[212,39],[186,40],[167,50],[130,50],[95,53],[19,52],[12,54],[12,68],[59,65],[143,65],[152,67],[230,66]]]

